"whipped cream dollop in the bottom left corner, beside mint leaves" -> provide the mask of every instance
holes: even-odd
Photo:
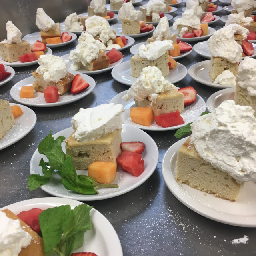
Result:
[[[0,211],[0,255],[18,256],[30,242],[31,236],[22,229],[20,220],[12,220]]]

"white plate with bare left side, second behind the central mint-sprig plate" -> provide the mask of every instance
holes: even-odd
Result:
[[[118,66],[115,66],[111,72],[112,77],[126,85],[132,85],[136,81],[136,77],[131,76],[131,62],[126,61]],[[176,68],[170,69],[168,76],[165,77],[170,83],[174,84],[180,80],[182,80],[188,74],[188,70],[185,66],[178,63]]]

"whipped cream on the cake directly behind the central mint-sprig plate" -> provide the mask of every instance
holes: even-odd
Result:
[[[156,98],[160,92],[169,90],[177,90],[177,88],[164,79],[159,68],[148,66],[142,69],[140,76],[132,84],[127,94],[123,96],[123,99],[128,101],[135,98],[142,101],[150,96],[151,104],[153,104],[156,103]]]

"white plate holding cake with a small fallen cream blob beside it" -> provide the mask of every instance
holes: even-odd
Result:
[[[228,86],[228,85],[214,84],[210,79],[209,70],[210,70],[210,60],[204,60],[190,66],[190,68],[188,69],[188,74],[197,82],[208,85],[210,87],[221,88],[221,89],[234,87],[234,85]]]

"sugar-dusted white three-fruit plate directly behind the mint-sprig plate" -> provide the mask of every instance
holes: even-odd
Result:
[[[126,93],[127,93],[127,90],[114,96],[114,98],[112,98],[110,103],[122,104],[125,109],[125,111],[122,115],[122,119],[123,119],[124,123],[136,126],[142,130],[167,131],[167,130],[179,129],[179,128],[185,126],[186,124],[194,122],[194,120],[196,120],[202,114],[202,112],[204,112],[206,110],[206,104],[205,104],[204,100],[202,99],[201,96],[197,95],[196,101],[193,104],[191,104],[190,106],[185,107],[184,111],[180,114],[185,122],[184,124],[172,126],[172,127],[162,127],[162,126],[157,125],[156,122],[154,121],[150,126],[144,126],[144,125],[135,124],[134,122],[132,122],[132,119],[130,118],[130,108],[135,108],[136,105],[135,105],[133,98],[130,99],[129,101],[125,101],[122,99],[122,97],[124,95],[126,95]]]

